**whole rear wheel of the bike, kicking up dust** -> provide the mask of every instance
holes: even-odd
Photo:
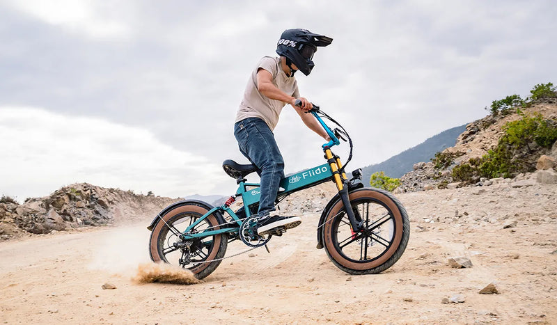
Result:
[[[175,264],[194,273],[202,279],[211,274],[226,253],[228,235],[226,233],[196,239],[182,240],[178,236],[198,220],[209,209],[199,203],[187,203],[166,212],[155,225],[149,241],[149,254],[153,262]],[[217,214],[207,216],[198,223],[193,232],[218,230],[224,223]]]

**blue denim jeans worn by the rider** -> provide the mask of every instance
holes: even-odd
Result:
[[[236,122],[234,136],[240,152],[259,168],[261,196],[258,214],[268,214],[274,210],[278,185],[284,177],[283,156],[278,150],[274,134],[260,118],[246,118]]]

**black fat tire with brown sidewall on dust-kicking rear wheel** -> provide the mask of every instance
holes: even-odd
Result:
[[[180,219],[191,217],[200,217],[207,213],[210,207],[200,204],[200,203],[185,203],[173,209],[168,210],[164,215],[162,215],[162,220],[152,228],[152,232],[149,239],[149,256],[153,262],[165,262],[168,264],[178,265],[178,260],[168,261],[164,254],[162,253],[163,246],[165,244],[166,235],[168,234],[168,225],[173,225],[176,221]],[[214,227],[214,230],[218,230],[220,227],[218,225],[223,224],[224,220],[220,214],[211,214],[205,219],[210,227]],[[168,224],[168,225],[167,225]],[[183,229],[180,229],[183,231]],[[222,233],[219,235],[212,236],[212,246],[207,253],[207,257],[204,260],[214,260],[213,262],[199,263],[193,265],[189,270],[198,279],[203,279],[206,276],[212,274],[212,272],[219,267],[221,264],[221,259],[226,253],[226,248],[228,246],[228,234]]]

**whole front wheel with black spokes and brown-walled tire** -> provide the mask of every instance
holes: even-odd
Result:
[[[352,230],[339,198],[327,212],[322,230],[329,259],[349,274],[377,274],[389,269],[408,244],[406,209],[391,193],[380,189],[359,189],[349,197],[363,229]]]

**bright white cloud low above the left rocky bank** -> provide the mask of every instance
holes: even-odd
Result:
[[[22,201],[89,182],[162,196],[209,193],[223,173],[144,129],[29,107],[0,108],[0,193]]]

